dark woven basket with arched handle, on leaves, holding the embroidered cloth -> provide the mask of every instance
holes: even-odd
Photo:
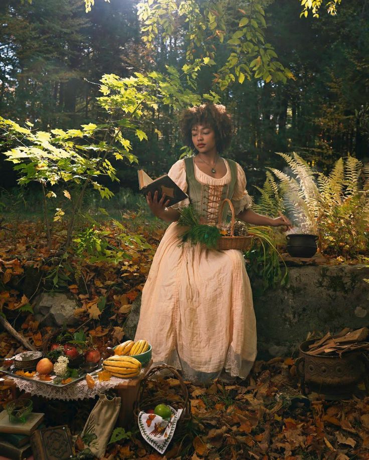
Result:
[[[179,381],[179,388],[176,388],[175,394],[167,393],[161,396],[150,397],[146,389],[147,382],[156,373],[162,370],[170,371],[170,373],[174,375],[174,377]],[[174,439],[185,435],[187,424],[191,420],[191,402],[189,391],[179,372],[174,369],[174,367],[168,366],[167,364],[159,364],[158,366],[153,367],[141,380],[133,411],[136,422],[138,420],[138,414],[141,410],[146,411],[148,409],[154,409],[157,404],[168,404],[176,410],[183,409],[183,412],[177,420]]]

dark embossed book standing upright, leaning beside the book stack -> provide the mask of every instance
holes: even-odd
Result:
[[[67,425],[36,430],[31,445],[37,460],[67,460],[73,456],[72,438]]]

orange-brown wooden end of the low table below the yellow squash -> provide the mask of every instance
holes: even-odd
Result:
[[[118,416],[117,425],[123,428],[129,428],[132,426],[133,420],[133,407],[137,399],[138,390],[140,388],[141,380],[146,377],[148,371],[152,365],[150,360],[147,365],[143,368],[143,372],[136,379],[124,380],[113,388],[117,395],[121,398],[120,411]]]

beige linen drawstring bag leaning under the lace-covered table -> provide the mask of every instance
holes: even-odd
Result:
[[[105,454],[120,410],[121,399],[100,393],[99,400],[92,409],[83,428],[81,437],[89,438],[91,453],[100,458]]]

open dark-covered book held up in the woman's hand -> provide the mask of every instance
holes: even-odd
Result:
[[[175,182],[173,182],[167,174],[160,176],[157,179],[152,180],[143,170],[138,170],[138,184],[140,192],[147,195],[151,192],[151,196],[154,196],[155,191],[158,192],[157,199],[160,200],[163,193],[165,193],[165,202],[169,200],[167,206],[172,206],[179,201],[188,198],[185,192],[183,192]]]

